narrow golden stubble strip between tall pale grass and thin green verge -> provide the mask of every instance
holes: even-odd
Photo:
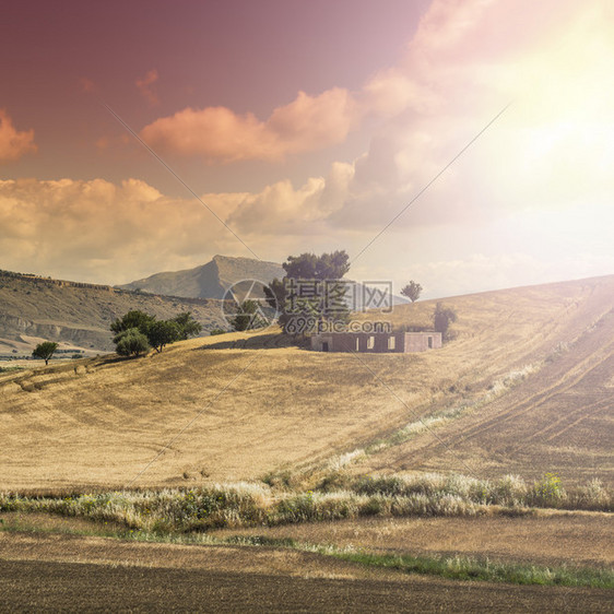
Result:
[[[539,565],[614,565],[614,524],[606,513],[551,513],[536,517],[374,518],[224,529],[211,533],[263,535],[298,542],[353,546],[378,553],[472,555]]]

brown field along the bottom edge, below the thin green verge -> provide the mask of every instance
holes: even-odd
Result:
[[[273,548],[1,535],[0,553],[5,611],[611,611],[610,591],[459,583]]]

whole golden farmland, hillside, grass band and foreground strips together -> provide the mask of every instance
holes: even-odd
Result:
[[[27,569],[61,588],[32,607],[99,575],[137,610],[155,577],[185,607],[607,611],[614,276],[444,303],[422,354],[267,330],[0,375],[7,609]]]

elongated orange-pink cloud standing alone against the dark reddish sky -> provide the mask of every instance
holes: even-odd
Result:
[[[345,140],[358,108],[350,92],[335,87],[319,96],[299,92],[268,120],[226,107],[186,108],[156,119],[141,131],[153,147],[212,162],[280,161]]]

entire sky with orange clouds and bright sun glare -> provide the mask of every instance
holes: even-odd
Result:
[[[424,297],[614,273],[607,0],[23,0],[0,269],[345,249]]]

